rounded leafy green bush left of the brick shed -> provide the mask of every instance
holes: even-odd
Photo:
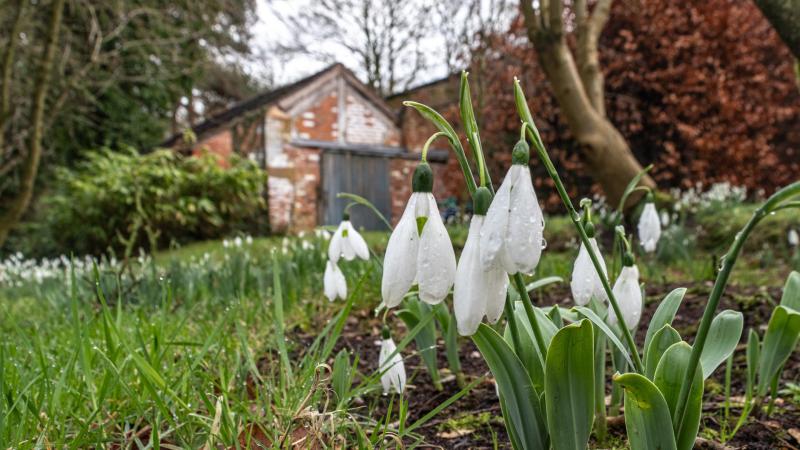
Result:
[[[89,153],[54,183],[14,246],[29,256],[120,254],[266,227],[266,174],[232,157]]]

